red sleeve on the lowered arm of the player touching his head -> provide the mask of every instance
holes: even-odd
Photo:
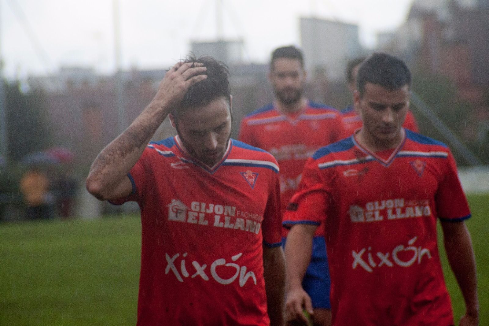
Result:
[[[268,247],[278,247],[282,243],[282,216],[280,213],[280,183],[278,174],[274,174],[271,182],[270,194],[268,195],[267,207],[265,209],[262,234],[263,243]]]

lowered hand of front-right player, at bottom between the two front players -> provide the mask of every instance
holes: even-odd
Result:
[[[312,315],[312,302],[309,295],[302,287],[290,290],[287,293],[285,303],[285,318],[288,326],[306,325],[309,326],[311,321],[304,313]]]

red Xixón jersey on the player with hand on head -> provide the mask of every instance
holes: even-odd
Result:
[[[230,140],[207,168],[178,136],[151,142],[129,177],[141,208],[137,325],[269,325],[263,245],[281,242],[278,166]]]

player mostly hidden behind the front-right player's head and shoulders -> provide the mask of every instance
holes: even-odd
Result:
[[[360,57],[350,61],[346,66],[347,86],[348,90],[352,94],[356,90],[356,75],[358,73],[358,68],[360,68],[361,63],[364,60],[365,57]],[[353,105],[349,105],[345,109],[343,109],[341,111],[341,117],[347,136],[353,135],[355,130],[361,128],[362,126],[362,118],[359,116]],[[418,125],[416,124],[416,119],[414,118],[411,110],[407,111],[406,118],[402,126],[416,133],[419,132]]]

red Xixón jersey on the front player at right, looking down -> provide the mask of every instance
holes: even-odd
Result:
[[[452,325],[437,218],[470,217],[445,144],[405,131],[394,151],[351,138],[306,163],[284,225],[326,224],[333,325]]]

